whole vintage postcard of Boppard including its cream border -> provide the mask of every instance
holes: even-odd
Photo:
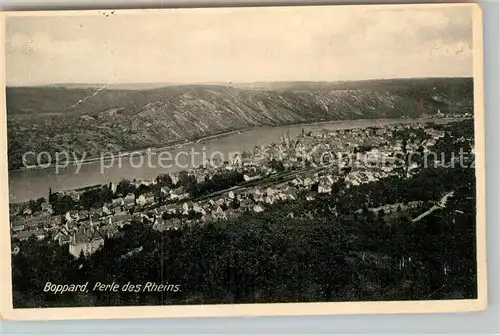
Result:
[[[485,307],[477,4],[3,24],[5,315]]]

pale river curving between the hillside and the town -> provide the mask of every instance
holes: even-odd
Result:
[[[160,173],[176,172],[185,168],[199,166],[206,158],[229,159],[229,153],[253,151],[255,146],[267,145],[278,141],[283,134],[297,136],[304,129],[308,131],[340,130],[365,127],[381,127],[398,123],[449,123],[456,119],[370,119],[322,122],[307,125],[284,127],[261,127],[229,135],[212,137],[207,140],[173,146],[148,155],[88,162],[80,166],[69,165],[56,171],[56,167],[38,170],[9,171],[10,202],[18,203],[47,197],[52,191],[71,190],[95,184],[117,183],[122,178],[151,179]],[[168,152],[167,152],[168,151]],[[159,152],[164,154],[159,155]],[[165,153],[167,152],[167,153]],[[193,154],[194,153],[194,154]],[[160,159],[162,158],[162,159]],[[142,161],[142,164],[141,164]],[[176,164],[173,164],[176,162]],[[78,173],[77,173],[78,172]]]

